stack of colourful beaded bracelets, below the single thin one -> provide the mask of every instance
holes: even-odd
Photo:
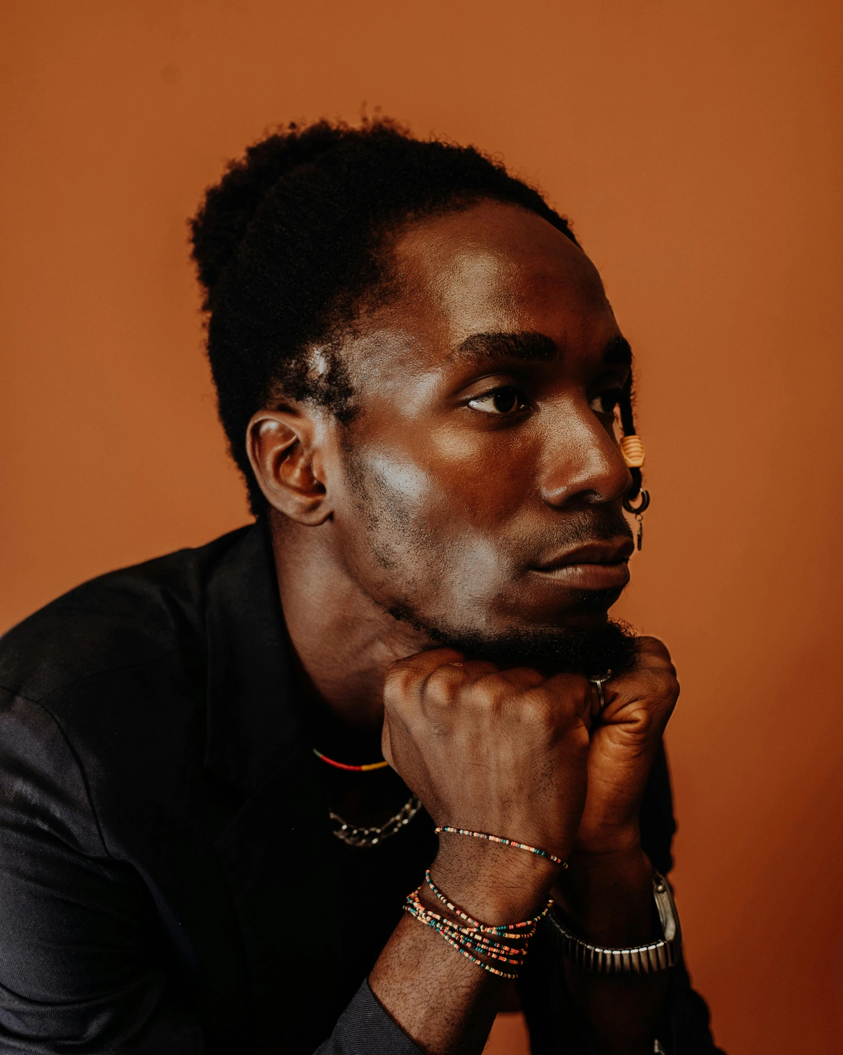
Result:
[[[524,961],[527,959],[527,946],[530,938],[535,934],[538,921],[547,915],[553,902],[548,901],[545,908],[532,919],[524,920],[521,923],[502,923],[497,926],[489,926],[452,904],[430,878],[429,868],[425,874],[425,882],[434,897],[457,919],[462,920],[462,923],[457,923],[440,913],[435,913],[432,908],[427,908],[418,897],[420,886],[409,895],[404,910],[417,919],[419,923],[424,923],[425,926],[429,926],[442,935],[449,945],[462,953],[472,963],[476,963],[478,967],[488,971],[489,974],[497,975],[499,978],[517,978],[518,968],[524,966]],[[510,942],[516,942],[516,944],[509,944]],[[490,960],[492,962],[488,962]],[[498,967],[495,966],[495,963],[505,966]],[[506,970],[506,967],[510,970]],[[515,970],[511,970],[512,967]]]

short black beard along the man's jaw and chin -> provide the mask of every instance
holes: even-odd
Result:
[[[603,591],[588,591],[583,601],[606,608],[611,601],[603,594]],[[456,649],[468,659],[487,659],[502,668],[533,667],[546,674],[573,673],[586,677],[611,671],[617,677],[634,667],[639,656],[638,637],[621,620],[610,619],[594,630],[510,627],[501,634],[485,635],[426,625],[404,607],[391,608],[389,613],[438,646]]]

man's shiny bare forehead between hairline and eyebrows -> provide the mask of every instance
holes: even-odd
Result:
[[[370,377],[443,366],[478,333],[542,333],[585,350],[617,332],[593,264],[518,206],[483,202],[425,218],[403,229],[389,252],[395,292],[349,349]]]

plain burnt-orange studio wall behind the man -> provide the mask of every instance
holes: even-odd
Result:
[[[620,606],[683,683],[694,981],[730,1055],[839,1051],[841,9],[834,0],[5,0],[0,629],[243,523],[185,218],[269,127],[376,106],[569,214],[638,356]],[[496,1050],[525,1049],[517,1023]]]

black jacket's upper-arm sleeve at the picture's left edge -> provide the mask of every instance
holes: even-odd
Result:
[[[0,692],[0,1055],[199,1055],[168,996],[154,907],[109,857],[52,716]]]

